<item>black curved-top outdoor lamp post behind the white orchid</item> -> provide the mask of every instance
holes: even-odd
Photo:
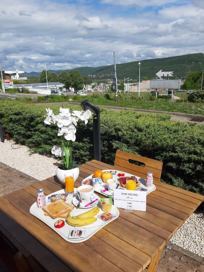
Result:
[[[94,159],[101,161],[100,109],[93,105],[89,100],[82,101],[81,107],[84,111],[89,109],[92,113],[96,114],[96,119],[93,119]]]

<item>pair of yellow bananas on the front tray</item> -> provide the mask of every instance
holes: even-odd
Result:
[[[81,227],[94,223],[97,218],[94,216],[99,213],[99,207],[95,207],[88,212],[81,213],[71,217],[70,213],[67,216],[66,222],[71,226]]]

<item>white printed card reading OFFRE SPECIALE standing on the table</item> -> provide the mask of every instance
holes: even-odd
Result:
[[[123,209],[146,212],[146,192],[133,190],[114,190],[114,206]]]

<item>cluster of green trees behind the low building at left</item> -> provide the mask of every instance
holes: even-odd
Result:
[[[92,80],[87,76],[82,76],[78,70],[70,71],[68,74],[66,71],[63,71],[57,75],[57,73],[47,71],[47,80],[46,80],[46,71],[42,70],[39,76],[40,83],[52,83],[60,82],[65,85],[65,88],[73,87],[75,90],[83,89],[84,84],[89,85],[92,83]]]

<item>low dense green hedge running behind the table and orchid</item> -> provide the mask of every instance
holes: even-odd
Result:
[[[79,107],[67,105],[72,109]],[[65,107],[65,105],[64,105]],[[55,114],[58,105],[50,105]],[[0,101],[4,131],[40,154],[60,143],[57,129],[43,124],[44,105]],[[139,154],[164,162],[162,181],[204,194],[204,126],[171,121],[170,115],[101,109],[102,161],[114,164],[115,152]],[[79,121],[73,155],[79,163],[93,159],[92,121]]]

